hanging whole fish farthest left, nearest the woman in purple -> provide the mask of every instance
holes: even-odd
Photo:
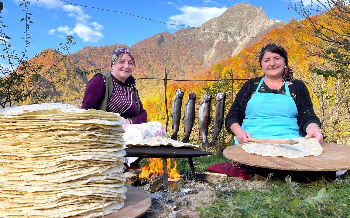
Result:
[[[177,132],[179,131],[180,120],[181,120],[181,106],[182,106],[182,98],[184,92],[181,89],[176,90],[175,97],[173,100],[172,113],[170,117],[173,120],[173,135],[172,140],[177,140]]]

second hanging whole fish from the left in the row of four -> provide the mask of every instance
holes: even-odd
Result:
[[[190,91],[186,99],[185,112],[183,114],[182,121],[184,123],[183,132],[185,136],[182,139],[182,142],[189,143],[190,135],[192,132],[193,124],[195,122],[195,108],[196,108],[196,94]]]

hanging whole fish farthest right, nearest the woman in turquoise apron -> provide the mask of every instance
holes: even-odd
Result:
[[[223,93],[222,91],[219,92],[216,96],[213,137],[209,143],[210,147],[215,145],[215,141],[219,136],[219,133],[222,129],[222,125],[224,124],[225,101],[226,101],[226,93]]]

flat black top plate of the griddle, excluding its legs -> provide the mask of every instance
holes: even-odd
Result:
[[[173,146],[130,146],[124,149],[125,157],[201,157],[211,155],[211,152],[187,147]]]

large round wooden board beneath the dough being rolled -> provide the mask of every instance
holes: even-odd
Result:
[[[237,163],[277,170],[338,171],[350,169],[350,145],[321,143],[323,152],[318,156],[301,158],[266,157],[247,153],[242,144],[223,151],[225,158]]]

